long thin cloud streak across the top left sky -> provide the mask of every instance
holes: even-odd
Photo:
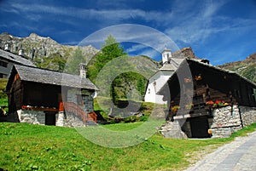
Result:
[[[159,11],[144,11],[142,9],[81,9],[81,8],[67,8],[56,7],[43,4],[24,4],[14,3],[11,4],[13,11],[23,11],[26,13],[35,14],[58,14],[63,16],[75,17],[79,19],[93,19],[104,21],[120,21],[142,19],[146,21],[155,21],[165,24],[170,21],[172,13],[162,13]],[[9,10],[11,10],[9,9]],[[167,24],[167,23],[166,23]]]

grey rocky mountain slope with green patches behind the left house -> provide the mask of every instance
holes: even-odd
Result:
[[[63,65],[72,56],[77,48],[80,48],[85,58],[90,58],[99,50],[89,46],[69,46],[55,42],[50,37],[40,37],[31,33],[29,37],[14,37],[9,33],[0,34],[0,47],[5,48],[9,44],[9,50],[18,54],[19,49],[24,52],[24,57],[32,60],[36,66],[62,71]]]

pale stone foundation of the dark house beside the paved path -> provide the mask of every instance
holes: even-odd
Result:
[[[241,128],[256,123],[256,108],[239,105],[223,106],[213,109],[212,116],[213,118],[208,118],[212,138],[226,138]],[[160,133],[168,138],[191,138],[191,131],[188,120],[180,125],[176,119],[173,123],[167,122],[160,127]]]

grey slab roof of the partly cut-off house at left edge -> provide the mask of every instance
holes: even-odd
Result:
[[[0,58],[3,58],[4,60],[9,60],[11,62],[14,62],[15,64],[20,64],[25,66],[35,66],[32,63],[32,61],[26,60],[26,58],[23,58],[17,54],[12,54],[3,49],[0,49]]]

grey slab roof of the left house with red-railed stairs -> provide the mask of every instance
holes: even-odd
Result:
[[[19,74],[21,81],[98,90],[88,78],[81,78],[78,75],[19,65],[15,65],[14,70]]]

